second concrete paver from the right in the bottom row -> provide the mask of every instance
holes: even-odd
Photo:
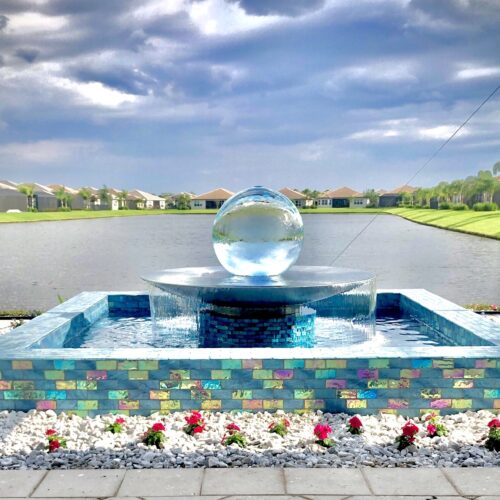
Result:
[[[363,469],[375,495],[458,495],[440,469]]]

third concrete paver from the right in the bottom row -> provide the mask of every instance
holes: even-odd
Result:
[[[359,469],[285,469],[286,491],[294,495],[369,495]]]

